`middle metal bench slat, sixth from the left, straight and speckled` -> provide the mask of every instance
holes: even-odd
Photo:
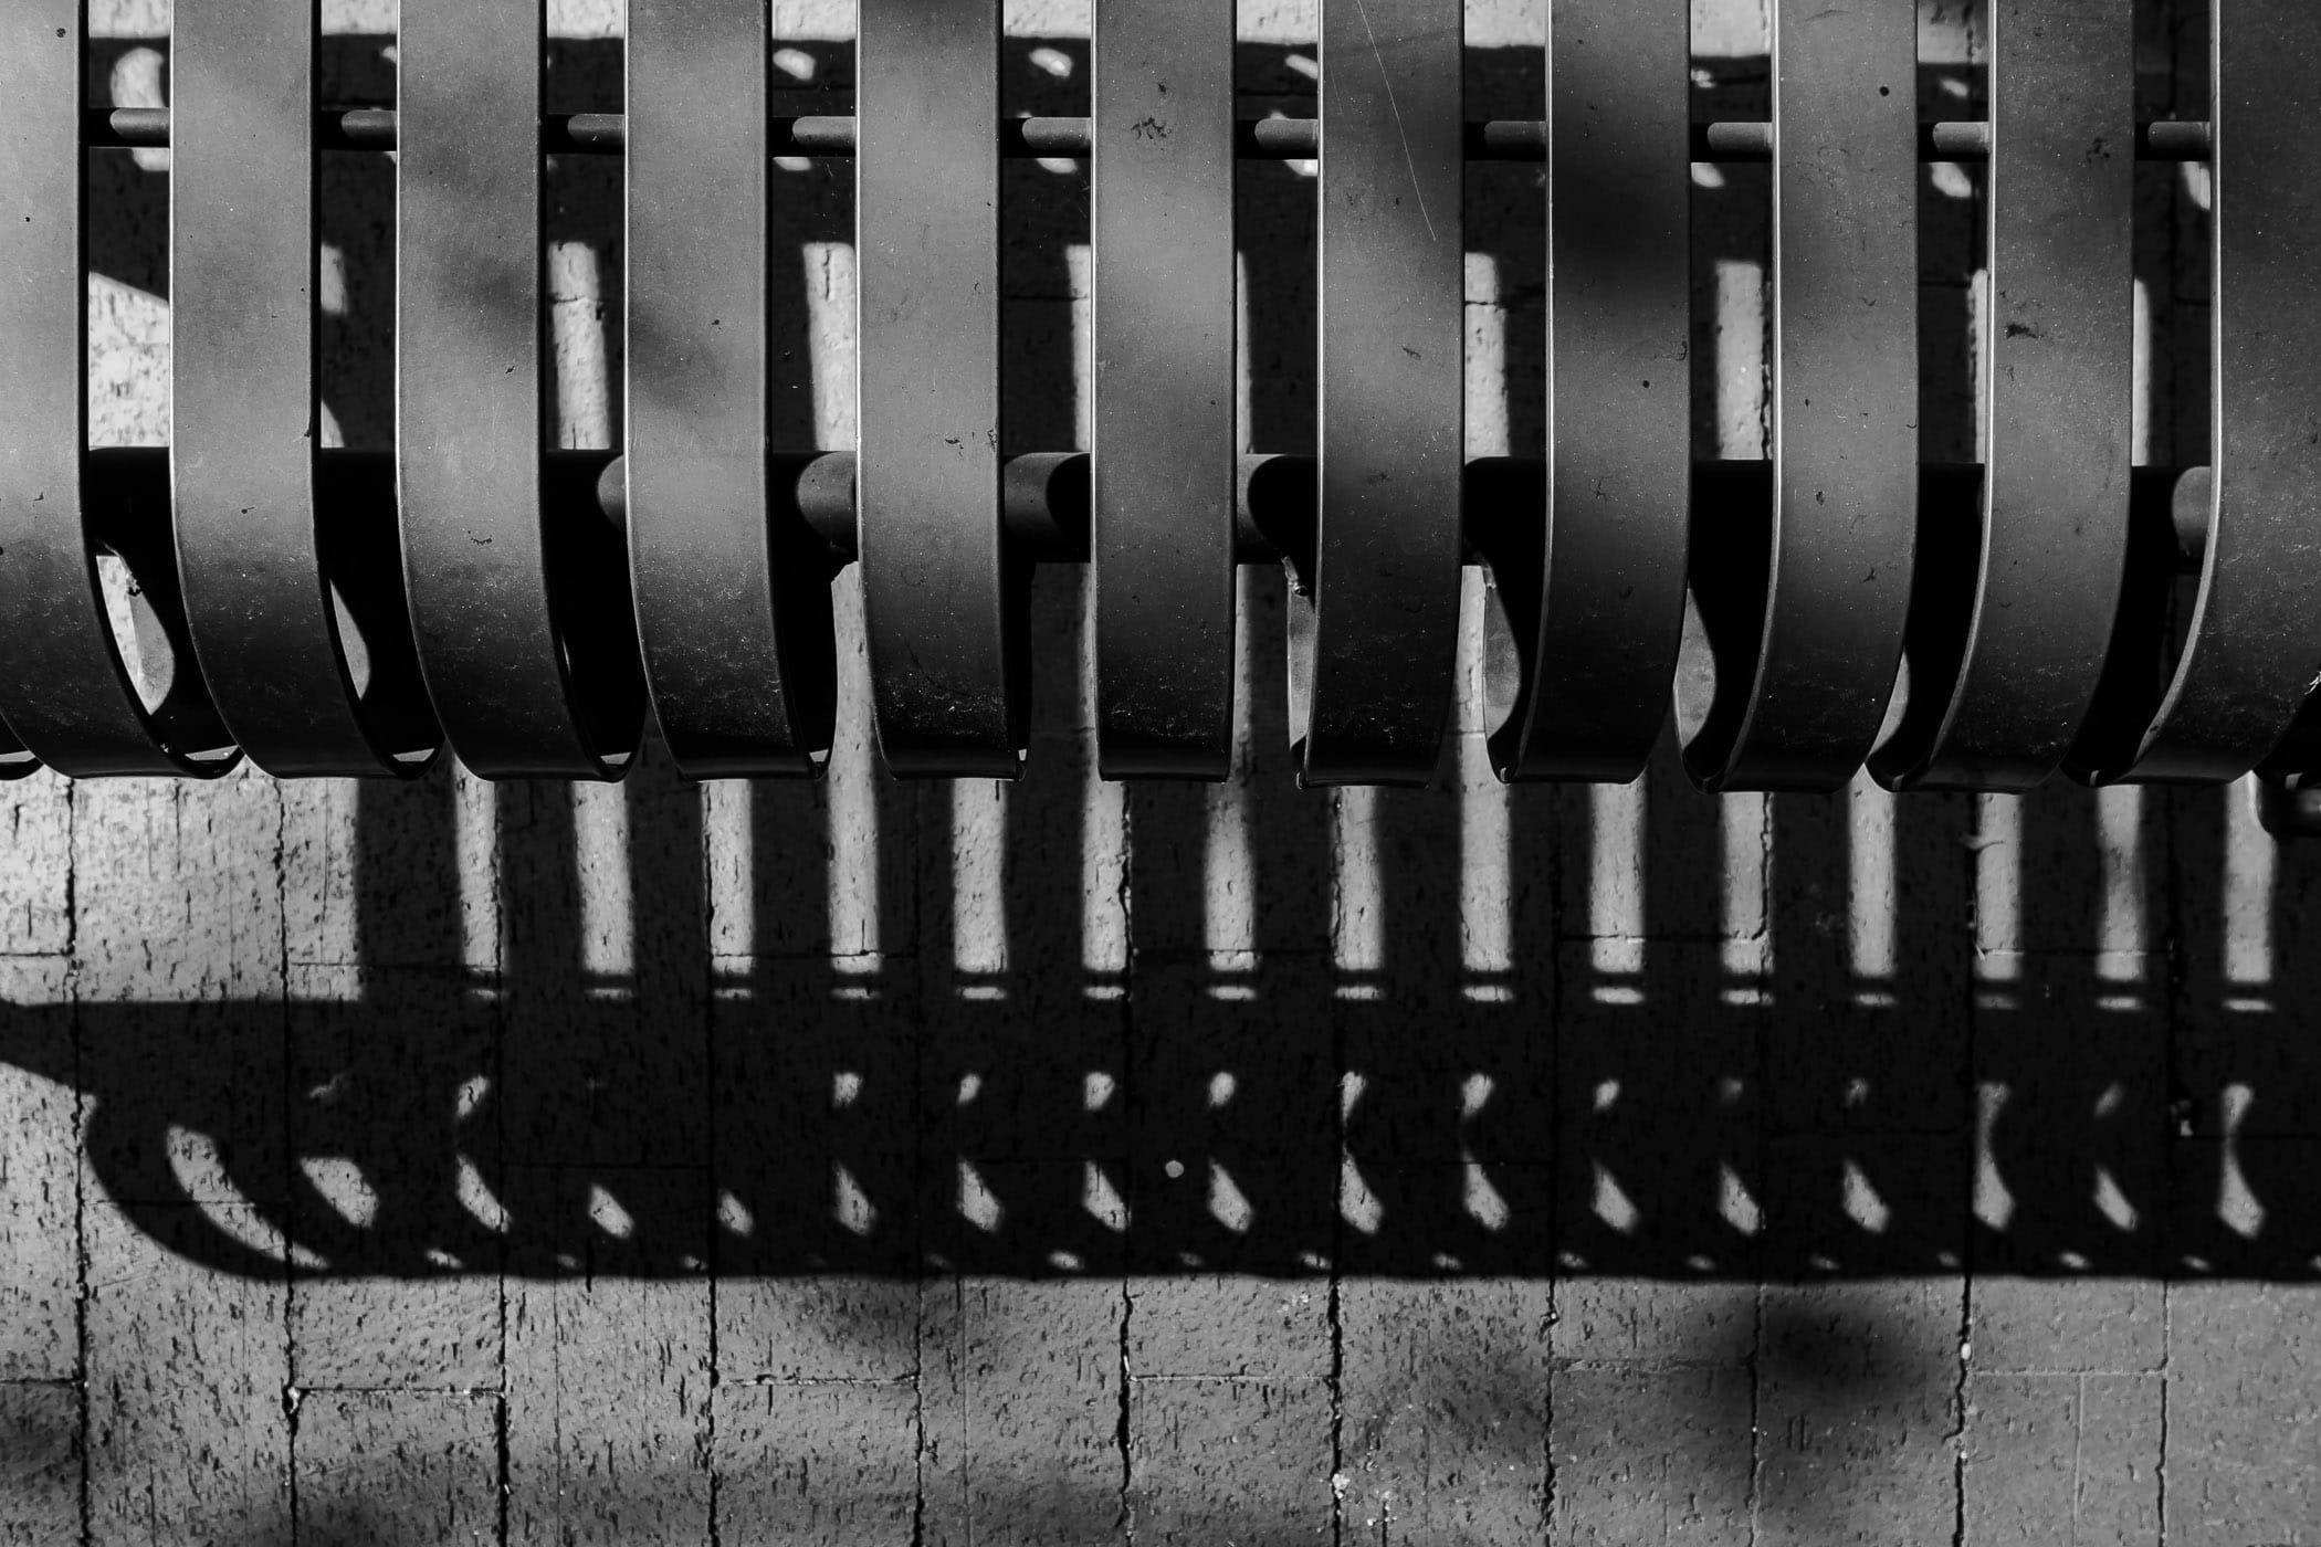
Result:
[[[1232,0],[1100,0],[1096,749],[1232,770]]]

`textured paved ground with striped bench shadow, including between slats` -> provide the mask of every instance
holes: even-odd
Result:
[[[1699,114],[1762,114],[1762,7],[1694,12]],[[1971,116],[1975,9],[1919,12]],[[383,100],[392,5],[323,14]],[[548,14],[615,107],[620,5]],[[847,7],[773,14],[843,102]],[[93,5],[93,100],[167,97],[167,16]],[[1469,5],[1472,111],[1541,111],[1543,16]],[[1084,0],[1010,21],[1072,111]],[[1309,2],[1242,32],[1311,93]],[[773,434],[845,445],[849,195],[794,176]],[[93,438],[156,443],[167,158],[91,179]],[[1697,186],[1699,455],[1757,457],[1766,186]],[[392,174],[323,188],[327,434],[385,445]],[[610,445],[617,181],[550,188],[543,431]],[[1931,459],[1977,190],[1926,172]],[[2140,450],[2198,462],[2200,188],[2140,193]],[[1077,443],[1084,169],[1007,199],[1010,434]],[[1539,176],[1469,204],[1469,445],[1525,450]],[[1300,450],[1297,167],[1242,244]],[[815,789],[0,789],[0,1542],[2321,1542],[2316,851],[2247,791],[1502,791],[1472,682],[1437,789],[1300,793],[1242,594],[1221,789],[1093,782],[1068,571],[1012,789],[877,775],[852,654]]]

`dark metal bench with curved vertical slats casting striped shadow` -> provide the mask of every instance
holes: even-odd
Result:
[[[1325,0],[1314,118],[1239,121],[1232,5],[1096,9],[1093,116],[1003,121],[998,0],[861,0],[856,116],[778,116],[764,0],[631,0],[627,114],[543,116],[532,5],[404,0],[395,109],[311,0],[183,0],[174,104],[0,19],[0,772],[812,777],[861,566],[898,775],[1026,756],[1026,575],[1093,566],[1107,777],[1230,765],[1237,564],[1293,575],[1309,784],[1418,784],[1490,573],[1492,761],[1706,789],[2321,768],[2321,9],[2210,0],[2214,121],[2135,123],[2131,5],[1994,0],[1922,123],[1908,5],[1778,0],[1771,123],[1692,123],[1685,0],[1555,0],[1548,118],[1469,121],[1458,0]],[[174,427],[86,448],[84,160],[172,151]],[[323,450],[313,167],[397,153],[392,457]],[[541,158],[627,158],[627,445],[543,448]],[[852,158],[861,443],[768,452],[775,155]],[[1000,162],[1093,162],[1093,448],[1005,457]],[[1235,441],[1235,169],[1318,160],[1311,457]],[[1919,162],[1987,162],[1984,466],[1917,448]],[[1548,457],[1462,450],[1462,179],[1543,162]],[[1697,464],[1690,167],[1771,162],[1771,457]],[[2135,160],[2212,174],[2214,466],[2131,466]],[[139,559],[142,696],[95,584]],[[2179,578],[2198,575],[2184,617]],[[1687,622],[1690,617],[1690,622]],[[1678,670],[1680,656],[1687,668]],[[1896,689],[1901,682],[1901,691]]]

